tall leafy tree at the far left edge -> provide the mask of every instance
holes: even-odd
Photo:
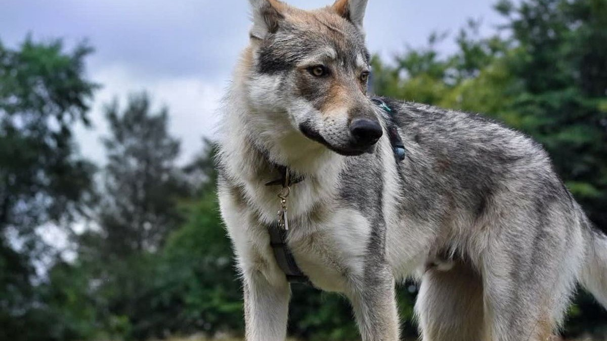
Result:
[[[89,125],[98,85],[84,76],[92,52],[60,40],[0,42],[0,339],[21,340],[50,323],[32,285],[32,262],[48,249],[44,223],[65,227],[93,198],[93,164],[78,155],[72,125]],[[24,332],[27,331],[27,332]]]

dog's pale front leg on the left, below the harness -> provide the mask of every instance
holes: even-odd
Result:
[[[259,271],[244,276],[246,341],[284,341],[290,286],[270,283]]]

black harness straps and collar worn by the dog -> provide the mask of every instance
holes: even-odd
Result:
[[[404,160],[405,146],[402,144],[402,139],[398,134],[398,126],[393,116],[393,110],[379,98],[372,98],[371,101],[384,112],[388,137],[390,138],[390,144],[392,144],[396,161],[399,162]],[[266,186],[282,185],[282,187],[285,188],[304,180],[302,177],[291,177],[290,174],[288,174],[288,168],[285,166],[277,166],[277,168],[280,171],[280,178],[266,183]],[[291,249],[287,245],[288,230],[283,228],[283,226],[280,226],[277,222],[268,227],[268,232],[270,233],[270,246],[272,247],[274,258],[276,258],[276,263],[279,268],[287,275],[287,281],[289,283],[305,283],[307,285],[312,285],[308,276],[304,274],[299,266],[297,266],[295,257],[293,257],[293,252],[291,252]]]

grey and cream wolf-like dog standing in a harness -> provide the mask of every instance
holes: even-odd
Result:
[[[285,340],[290,277],[277,247],[313,286],[350,300],[365,341],[399,339],[405,279],[419,281],[426,341],[547,340],[578,282],[607,306],[607,237],[540,144],[483,116],[372,101],[367,0],[249,2],[217,156],[246,340]]]

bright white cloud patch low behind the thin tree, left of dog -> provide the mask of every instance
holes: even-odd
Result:
[[[146,90],[152,96],[155,109],[168,106],[169,131],[181,140],[182,163],[200,150],[203,136],[212,138],[214,135],[218,121],[217,108],[223,92],[219,82],[210,83],[187,76],[150,77],[121,64],[104,67],[95,72],[92,78],[103,84],[90,112],[92,129],[77,126],[75,135],[81,154],[97,164],[105,162],[100,140],[109,133],[103,107],[114,98],[124,105],[127,95],[133,92]]]

